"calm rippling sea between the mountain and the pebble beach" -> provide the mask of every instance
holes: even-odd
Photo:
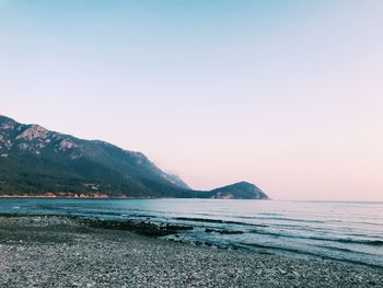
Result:
[[[151,222],[195,227],[167,237],[178,241],[383,267],[383,203],[3,198],[0,212],[150,218]]]

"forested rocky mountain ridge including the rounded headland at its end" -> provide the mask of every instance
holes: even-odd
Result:
[[[265,198],[248,185],[193,191],[141,152],[0,115],[0,195]]]

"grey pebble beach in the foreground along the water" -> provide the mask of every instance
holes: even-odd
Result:
[[[0,287],[379,287],[379,267],[222,250],[91,227],[0,217]]]

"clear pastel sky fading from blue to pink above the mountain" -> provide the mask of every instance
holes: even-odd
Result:
[[[383,1],[0,0],[0,114],[194,188],[383,200]]]

